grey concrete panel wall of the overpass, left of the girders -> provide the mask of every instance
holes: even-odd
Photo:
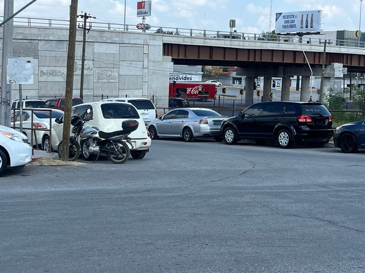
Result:
[[[0,32],[2,37],[2,33]],[[2,39],[1,39],[2,40]],[[2,41],[0,42],[2,45]],[[14,27],[14,57],[34,58],[34,83],[22,84],[23,98],[64,96],[68,29]],[[2,50],[2,46],[1,46]],[[1,56],[1,55],[0,55]],[[79,96],[82,31],[77,31],[73,96]],[[162,36],[91,29],[86,34],[83,98],[153,98],[156,107],[168,106],[170,57],[162,56]],[[19,86],[12,85],[12,100],[19,98]]]

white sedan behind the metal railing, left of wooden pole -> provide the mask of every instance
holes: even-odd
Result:
[[[46,111],[49,110],[49,111]],[[63,111],[59,109],[39,109],[39,110],[22,110],[22,132],[31,141],[32,146],[40,146],[40,148],[46,152],[50,151],[50,131],[49,128],[54,124],[56,118],[60,118],[63,115]],[[31,120],[31,114],[33,113],[33,123]],[[49,117],[51,117],[51,124],[49,125]],[[15,111],[11,116],[11,126],[19,128],[20,126],[20,111]],[[39,130],[32,130],[39,129]],[[55,142],[53,139],[52,143]],[[58,142],[57,142],[58,143]],[[37,147],[38,148],[38,147]]]

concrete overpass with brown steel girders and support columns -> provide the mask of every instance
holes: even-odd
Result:
[[[17,25],[18,22],[14,21],[13,56],[33,57],[37,64],[34,83],[22,86],[23,97],[62,96],[65,90],[68,21],[63,21],[63,24],[49,21],[46,26],[33,25],[30,21],[25,21],[25,25]],[[253,96],[254,77],[264,77],[263,99],[267,99],[270,91],[270,77],[282,77],[281,99],[288,100],[290,76],[301,75],[300,99],[307,100],[310,75],[319,76],[322,72],[324,39],[302,39],[302,43],[292,37],[266,41],[261,40],[259,34],[243,33],[241,39],[229,39],[216,38],[218,32],[207,35],[205,30],[198,30],[198,34],[196,30],[174,29],[167,34],[165,31],[155,33],[158,32],[157,27],[148,32],[135,28],[130,30],[123,25],[100,25],[92,24],[86,36],[85,101],[99,100],[102,96],[145,96],[155,98],[157,107],[167,107],[168,74],[172,72],[172,63],[237,66],[237,73],[246,76],[245,101],[248,102]],[[344,44],[343,41],[330,42],[324,59],[323,90],[342,64],[349,72],[365,72],[363,47],[337,45]],[[78,31],[74,96],[78,95],[80,86],[81,45],[82,31]],[[19,89],[17,85],[12,87]],[[17,98],[17,92],[12,92],[11,98]]]

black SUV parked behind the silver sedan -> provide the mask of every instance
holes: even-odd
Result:
[[[248,139],[281,148],[305,142],[320,147],[333,135],[332,116],[319,102],[260,102],[225,120],[220,133],[226,144]]]

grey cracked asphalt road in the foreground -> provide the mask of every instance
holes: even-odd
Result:
[[[364,272],[364,156],[153,140],[25,166],[0,178],[0,272]]]

